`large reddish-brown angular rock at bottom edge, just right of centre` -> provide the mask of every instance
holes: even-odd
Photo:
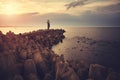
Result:
[[[62,80],[79,80],[78,75],[75,73],[75,71],[68,66],[67,62],[57,62],[56,65],[56,80],[62,79]]]

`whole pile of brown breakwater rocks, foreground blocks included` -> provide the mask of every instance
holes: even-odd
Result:
[[[0,32],[0,80],[120,80],[120,74],[98,64],[66,61],[51,48],[64,30],[24,34]]]

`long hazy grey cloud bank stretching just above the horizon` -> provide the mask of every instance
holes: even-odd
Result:
[[[4,15],[1,15],[2,17]],[[50,19],[52,26],[100,26],[120,27],[120,14],[95,14],[86,12],[81,15],[60,13],[39,14],[38,12],[16,15],[15,19],[4,19],[0,16],[0,25],[36,25],[46,26]]]

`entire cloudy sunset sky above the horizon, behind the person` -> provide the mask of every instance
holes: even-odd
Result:
[[[120,0],[0,0],[0,26],[120,27]]]

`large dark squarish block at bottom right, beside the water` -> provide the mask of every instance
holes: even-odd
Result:
[[[89,78],[94,80],[105,80],[107,76],[106,67],[99,64],[91,64],[89,68]]]

